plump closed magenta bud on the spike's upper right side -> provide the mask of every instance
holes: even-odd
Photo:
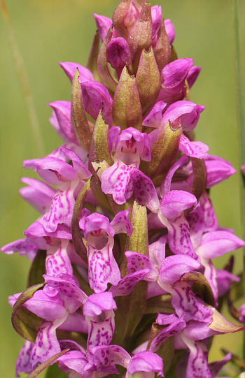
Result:
[[[193,66],[193,59],[177,59],[162,69],[162,89],[168,94],[178,94]]]

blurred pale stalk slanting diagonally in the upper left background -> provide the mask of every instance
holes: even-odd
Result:
[[[40,127],[38,125],[38,117],[36,115],[34,100],[33,100],[33,96],[31,94],[31,89],[30,89],[29,82],[27,79],[27,73],[25,71],[24,62],[23,62],[22,56],[20,54],[18,45],[15,40],[15,34],[13,32],[13,28],[10,22],[10,17],[8,14],[6,3],[4,0],[0,0],[0,4],[1,4],[1,13],[3,15],[3,18],[6,22],[6,26],[8,28],[8,38],[10,42],[10,48],[12,50],[13,59],[15,62],[15,68],[16,68],[16,71],[18,73],[18,77],[20,80],[20,87],[22,89],[25,103],[27,106],[27,112],[28,112],[29,120],[31,124],[31,131],[32,131],[32,134],[35,140],[35,145],[36,145],[35,151],[38,157],[43,157],[45,156],[44,143],[43,143],[43,138],[41,136]]]

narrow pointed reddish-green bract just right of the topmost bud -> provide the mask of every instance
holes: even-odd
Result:
[[[148,51],[151,48],[151,29],[151,3],[145,3],[127,38],[131,51],[133,73],[137,72],[142,50]]]

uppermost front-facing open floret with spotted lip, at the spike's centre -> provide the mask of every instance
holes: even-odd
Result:
[[[116,138],[115,150],[113,166],[102,173],[102,191],[122,204],[134,190],[133,170],[139,168],[141,159],[151,161],[151,142],[148,134],[130,127]]]

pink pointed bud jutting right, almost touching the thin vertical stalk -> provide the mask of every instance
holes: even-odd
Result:
[[[207,168],[207,188],[214,187],[214,185],[227,180],[236,173],[230,161],[226,161],[221,157],[209,156],[205,160],[205,164]]]

